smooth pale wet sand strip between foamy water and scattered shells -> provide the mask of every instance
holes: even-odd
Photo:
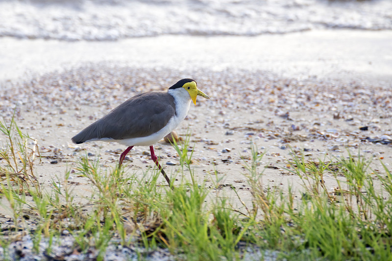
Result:
[[[270,71],[294,79],[388,84],[392,82],[391,42],[392,30],[348,29],[252,37],[164,35],[114,42],[5,37],[0,38],[0,82],[28,79],[86,63],[107,63],[180,71],[237,68]]]

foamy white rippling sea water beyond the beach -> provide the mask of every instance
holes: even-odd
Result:
[[[392,0],[1,0],[0,36],[106,41],[157,35],[392,29]]]

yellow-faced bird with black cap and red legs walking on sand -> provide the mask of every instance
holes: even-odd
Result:
[[[189,78],[179,80],[166,92],[150,91],[135,95],[71,140],[76,144],[102,141],[128,146],[120,155],[119,168],[134,146],[149,146],[152,161],[171,187],[169,177],[158,163],[153,144],[170,134],[185,119],[191,101],[196,105],[197,96],[210,99],[197,89],[196,81]]]

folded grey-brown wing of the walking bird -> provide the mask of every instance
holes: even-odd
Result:
[[[136,95],[82,130],[72,141],[146,137],[162,129],[174,115],[172,95],[164,92]]]

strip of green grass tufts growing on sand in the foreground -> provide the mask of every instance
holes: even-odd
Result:
[[[137,249],[141,260],[159,248],[178,260],[240,260],[248,250],[246,257],[254,254],[256,260],[258,251],[276,251],[278,260],[391,257],[392,174],[383,162],[386,174],[372,176],[370,161],[360,155],[309,162],[293,153],[287,170],[302,188],[294,191],[288,185],[282,190],[263,184],[258,168],[264,154],[252,145],[250,161],[244,162],[252,202],[244,202],[243,192],[232,188],[246,210],[241,212],[213,194],[219,186],[199,184],[188,135],[183,143],[173,143],[181,164],[174,174],[182,176],[173,190],[160,185],[158,169],[142,175],[102,169],[98,159],[85,156],[74,175],[88,181],[94,193],[77,204],[74,187],[67,182],[70,170],[53,179],[50,189],[40,188],[28,136],[14,120],[1,122],[0,129],[7,140],[1,149],[7,159],[1,166],[0,196],[13,212],[13,226],[0,229],[0,259],[15,258],[11,245],[20,231],[32,238],[37,254],[45,252],[51,259],[57,258],[53,247],[65,231],[73,238],[73,252],[97,260],[105,260],[113,244]],[[333,191],[325,187],[326,175],[335,179]]]

